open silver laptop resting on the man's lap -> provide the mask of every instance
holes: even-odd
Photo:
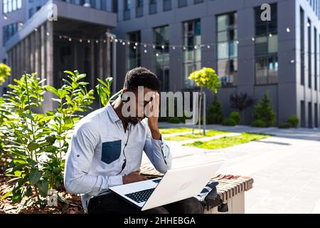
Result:
[[[162,178],[110,187],[110,190],[144,211],[200,194],[222,163],[223,160],[218,160],[172,169]]]

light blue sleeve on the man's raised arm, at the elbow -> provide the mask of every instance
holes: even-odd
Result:
[[[166,144],[163,137],[161,140],[154,140],[150,130],[147,131],[144,152],[149,157],[152,165],[161,173],[166,173],[171,169],[172,156],[170,147]]]

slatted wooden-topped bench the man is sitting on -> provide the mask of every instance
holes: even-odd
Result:
[[[141,174],[149,177],[162,177],[154,167],[142,166]],[[245,192],[252,189],[253,179],[235,175],[216,175],[211,182],[219,182],[216,207],[206,207],[205,214],[243,214],[245,213]]]

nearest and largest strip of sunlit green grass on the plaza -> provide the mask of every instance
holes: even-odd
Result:
[[[217,150],[225,147],[233,147],[235,145],[239,145],[246,142],[262,140],[270,136],[271,135],[242,133],[241,135],[237,135],[237,136],[223,137],[223,138],[218,138],[218,139],[210,140],[206,142],[196,141],[196,142],[188,143],[185,145],[191,146],[191,147],[210,149],[210,150]]]

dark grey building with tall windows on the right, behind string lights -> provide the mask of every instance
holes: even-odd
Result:
[[[262,21],[262,4],[270,4],[271,21]],[[232,93],[260,100],[267,91],[278,123],[297,115],[302,127],[319,128],[319,9],[320,1],[306,0],[119,1],[112,32],[153,46],[119,43],[117,76],[145,66],[164,90],[193,90],[189,74],[210,67],[223,82],[225,116]],[[251,120],[249,108],[245,123]]]

